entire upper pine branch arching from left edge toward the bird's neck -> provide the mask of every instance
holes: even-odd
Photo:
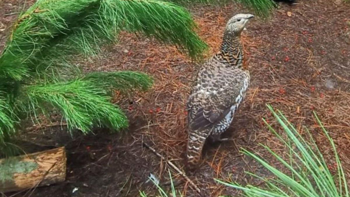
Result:
[[[207,45],[186,9],[158,0],[38,0],[13,25],[0,57],[0,79],[22,80],[72,52],[96,55],[120,30],[174,44],[191,57]],[[64,61],[65,62],[65,61]]]

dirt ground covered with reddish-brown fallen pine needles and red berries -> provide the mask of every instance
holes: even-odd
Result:
[[[5,41],[4,32],[22,4],[10,0],[1,3],[0,48]],[[248,12],[236,4],[189,9],[198,23],[198,33],[210,46],[207,57],[217,51],[226,21],[233,14]],[[350,178],[349,10],[350,5],[341,1],[299,0],[297,5],[276,9],[267,20],[255,18],[248,24],[242,39],[252,79],[247,97],[227,132],[232,141],[208,145],[200,169],[189,175],[205,196],[237,194],[213,178],[260,184],[244,171],[269,176],[261,165],[240,154],[240,148],[268,159],[271,156],[259,146],[263,143],[283,155],[285,149],[262,124],[263,117],[274,124],[266,103],[282,110],[300,133],[304,133],[303,125],[309,128],[331,165],[333,153],[313,118],[315,110],[333,138]],[[55,124],[48,123],[45,128],[34,125],[26,134],[31,141],[66,146],[66,181],[3,196],[135,197],[139,190],[154,196],[154,185],[147,181],[148,176],[152,173],[166,183],[169,166],[142,142],[179,168],[184,167],[185,103],[199,65],[175,47],[141,35],[122,33],[119,39],[118,44],[105,48],[101,56],[83,62],[83,66],[86,71],[138,70],[154,76],[154,87],[147,93],[133,95],[132,102],[119,95],[114,98],[127,111],[130,128],[117,134],[103,130],[89,136],[77,133],[71,138]],[[198,196],[180,175],[170,170],[184,196]],[[73,188],[78,190],[72,194]],[[165,184],[165,188],[169,185]]]

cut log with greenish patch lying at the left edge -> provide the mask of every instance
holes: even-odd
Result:
[[[64,147],[0,159],[0,192],[62,182],[66,161]]]

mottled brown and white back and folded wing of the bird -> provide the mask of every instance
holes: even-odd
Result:
[[[239,99],[243,99],[240,98],[241,94],[249,83],[247,74],[240,69],[235,72],[234,75],[224,73],[209,80],[197,80],[187,103],[191,130],[203,130],[215,125]]]

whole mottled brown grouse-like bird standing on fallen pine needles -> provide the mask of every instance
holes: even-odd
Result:
[[[195,76],[187,100],[187,168],[194,170],[201,162],[207,139],[227,141],[221,134],[233,120],[244,100],[250,73],[243,69],[243,45],[240,35],[252,14],[236,14],[226,23],[220,50],[205,61]]]

